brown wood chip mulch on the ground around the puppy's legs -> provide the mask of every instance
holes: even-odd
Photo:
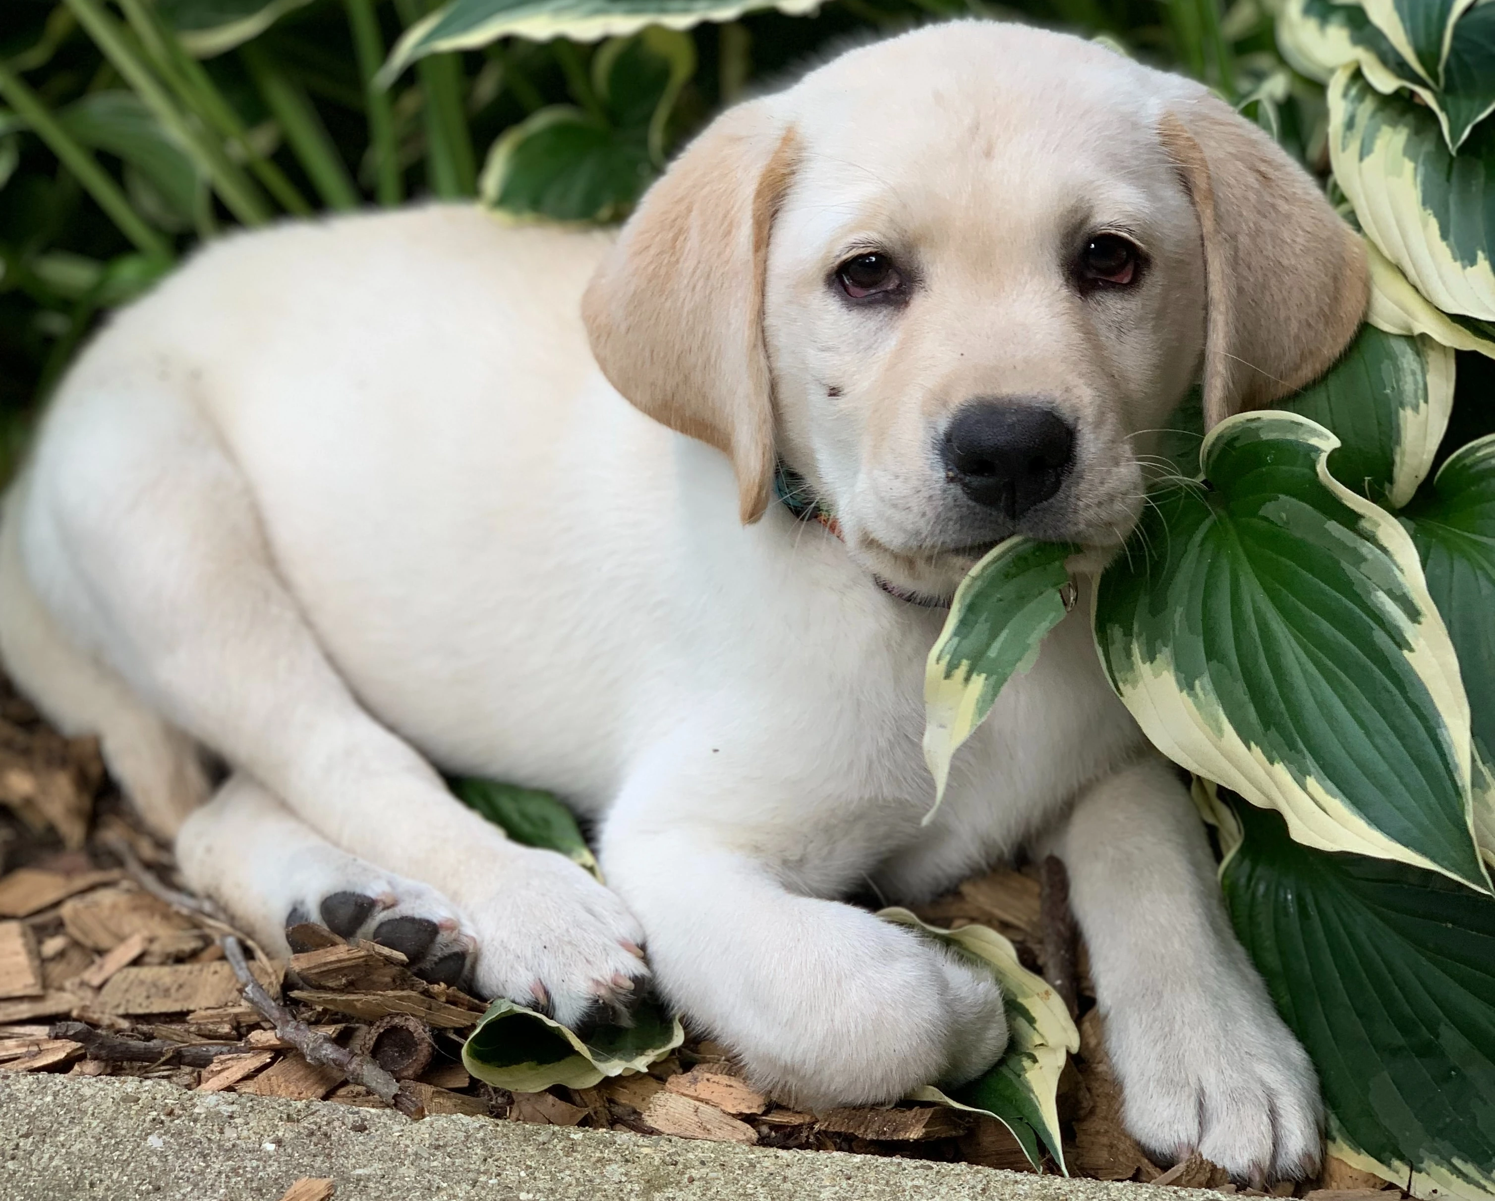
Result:
[[[1073,999],[1081,1052],[1058,1096],[1072,1174],[1236,1192],[1197,1156],[1172,1167],[1151,1162],[1121,1126],[1121,1095],[1057,868],[1049,860],[972,878],[918,914],[949,928],[991,926]],[[94,741],[63,738],[0,678],[0,1071],[136,1076],[197,1092],[363,1107],[387,1105],[378,1087],[386,1096],[398,1087],[395,1104],[417,1116],[1032,1171],[997,1122],[910,1102],[801,1113],[756,1092],[724,1047],[695,1037],[647,1076],[538,1093],[490,1087],[460,1062],[480,1001],[416,978],[398,952],[348,944],[323,928],[299,928],[299,946],[309,949],[289,962],[250,947],[248,969],[268,999],[284,1007],[287,1020],[303,1023],[302,1034],[287,1038],[289,1026],[278,1031],[245,1001],[224,959],[223,922],[179,889],[170,851],[121,802]],[[317,1047],[330,1049],[342,1067]],[[369,1068],[365,1079],[374,1086],[350,1083],[357,1074],[350,1062]],[[326,1185],[298,1182],[287,1198],[318,1201],[330,1195]],[[1320,1177],[1280,1185],[1271,1195],[1398,1201],[1404,1194],[1331,1159]]]

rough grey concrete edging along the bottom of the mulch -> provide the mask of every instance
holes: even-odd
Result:
[[[129,1077],[0,1074],[0,1197],[280,1201],[1223,1201],[1150,1185],[428,1117]]]

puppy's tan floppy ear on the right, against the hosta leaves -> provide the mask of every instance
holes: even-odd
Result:
[[[1199,214],[1205,427],[1322,375],[1369,300],[1365,246],[1275,142],[1212,96],[1159,125]]]

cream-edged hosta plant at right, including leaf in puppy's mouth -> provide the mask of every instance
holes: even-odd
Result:
[[[1495,1192],[1495,3],[1289,0],[1278,36],[1326,84],[1368,323],[1277,409],[1171,439],[1090,620],[1196,775],[1331,1153],[1473,1201]],[[1072,553],[1011,539],[957,593],[936,781],[1063,614]]]

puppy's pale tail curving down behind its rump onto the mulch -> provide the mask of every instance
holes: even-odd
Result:
[[[97,735],[109,775],[154,834],[170,840],[211,792],[199,747],[75,645],[36,595],[21,550],[24,472],[0,502],[0,665],[70,738]]]

